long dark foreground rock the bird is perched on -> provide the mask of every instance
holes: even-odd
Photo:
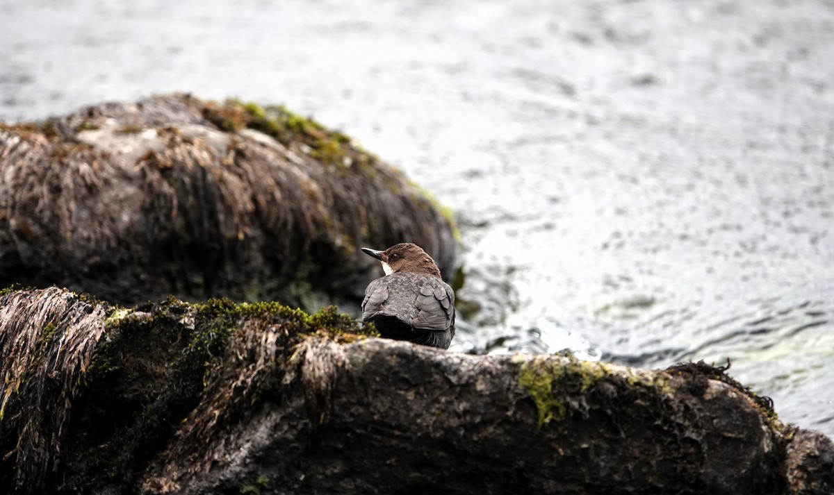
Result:
[[[470,356],[275,303],[0,298],[3,493],[805,493],[834,444],[690,363]]]

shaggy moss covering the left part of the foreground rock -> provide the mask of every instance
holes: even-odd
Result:
[[[126,488],[181,423],[211,435],[279,391],[305,339],[378,335],[333,307],[168,298],[120,308],[58,288],[7,292],[0,313],[3,493],[88,491],[90,479]]]

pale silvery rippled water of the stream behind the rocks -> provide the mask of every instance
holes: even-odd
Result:
[[[834,436],[834,4],[0,0],[0,119],[285,102],[459,215],[459,350],[723,363]]]

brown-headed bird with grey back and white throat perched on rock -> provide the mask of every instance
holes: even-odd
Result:
[[[455,291],[440,278],[435,260],[412,243],[362,252],[385,271],[365,288],[362,321],[373,322],[384,338],[448,349],[455,337]]]

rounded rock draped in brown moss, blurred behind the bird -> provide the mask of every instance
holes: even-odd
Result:
[[[359,247],[403,241],[454,273],[420,188],[284,107],[174,95],[0,125],[0,287],[354,305],[376,269]]]

